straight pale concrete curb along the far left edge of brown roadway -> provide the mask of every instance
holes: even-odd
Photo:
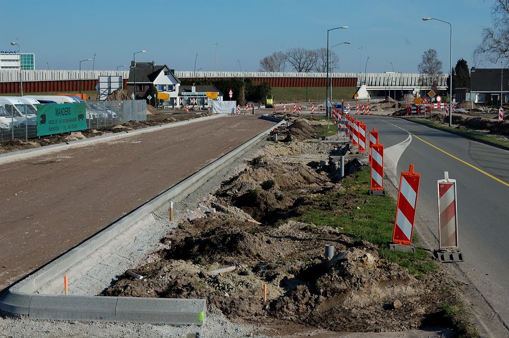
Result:
[[[130,130],[130,131],[125,131],[125,132],[120,132],[120,133],[115,133],[115,134],[106,134],[106,135],[91,137],[91,138],[82,139],[82,140],[46,145],[46,146],[38,147],[38,148],[7,152],[7,153],[3,153],[2,155],[0,155],[0,164],[16,161],[16,160],[20,160],[20,159],[25,159],[28,157],[44,155],[46,153],[60,151],[60,150],[66,149],[66,148],[71,148],[71,147],[76,147],[76,146],[85,146],[85,145],[92,144],[92,143],[105,142],[105,141],[109,141],[112,139],[120,139],[120,138],[124,138],[124,137],[129,137],[131,135],[150,133],[150,132],[158,131],[158,130],[165,129],[165,128],[184,126],[184,125],[188,125],[193,122],[199,122],[199,121],[203,121],[203,120],[224,117],[224,116],[228,116],[228,115],[227,114],[216,114],[216,115],[212,115],[212,116],[198,117],[198,118],[193,118],[190,120],[173,122],[173,123],[163,124],[163,125],[159,125],[159,126],[140,128],[140,129],[136,129],[136,130]]]

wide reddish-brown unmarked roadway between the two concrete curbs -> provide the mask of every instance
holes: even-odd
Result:
[[[0,290],[274,123],[224,116],[0,164]]]

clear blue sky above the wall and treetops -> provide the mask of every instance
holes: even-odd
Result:
[[[463,57],[471,67],[482,28],[492,26],[493,2],[2,0],[0,50],[12,49],[10,42],[17,38],[21,52],[35,53],[37,69],[78,69],[80,60],[95,53],[96,70],[129,65],[133,52],[146,50],[136,54],[137,62],[154,60],[192,71],[198,53],[196,70],[214,71],[217,41],[218,71],[238,71],[237,60],[243,70],[257,71],[264,56],[293,47],[325,47],[327,29],[348,25],[329,33],[329,46],[352,41],[334,47],[340,72],[364,71],[368,56],[367,72],[391,71],[391,62],[395,71],[417,72],[429,48],[437,50],[448,72],[449,25],[422,17],[453,24],[453,66]],[[92,69],[93,62],[81,68]]]

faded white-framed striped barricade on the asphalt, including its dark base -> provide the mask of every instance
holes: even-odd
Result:
[[[456,180],[449,179],[447,171],[444,179],[437,181],[438,188],[438,250],[435,256],[442,262],[462,262],[463,254],[458,245],[458,205],[456,202]]]

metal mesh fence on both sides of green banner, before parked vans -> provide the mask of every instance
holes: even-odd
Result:
[[[90,101],[85,105],[89,129],[108,128],[132,120],[147,120],[145,100]],[[33,106],[0,106],[0,142],[34,137],[37,137],[37,111]]]

